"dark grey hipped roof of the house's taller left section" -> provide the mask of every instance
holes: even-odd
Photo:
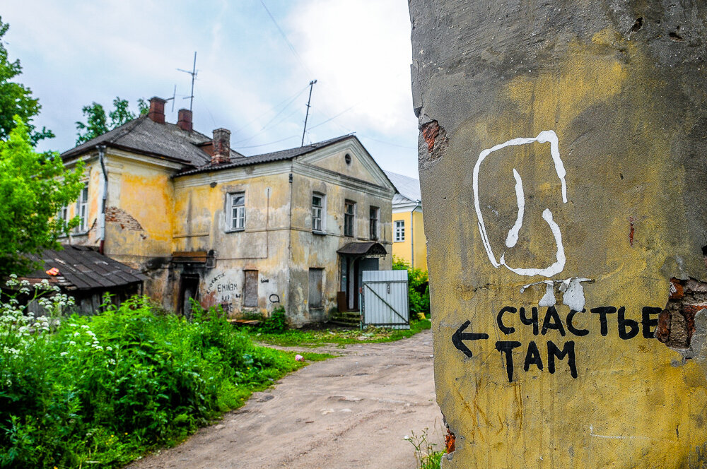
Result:
[[[199,146],[210,141],[211,138],[203,133],[187,132],[168,122],[157,124],[147,116],[141,116],[65,151],[62,158],[66,159],[93,150],[95,146],[105,145],[184,162],[187,165],[202,166],[211,161],[211,156]],[[240,158],[243,155],[231,150],[230,157]]]

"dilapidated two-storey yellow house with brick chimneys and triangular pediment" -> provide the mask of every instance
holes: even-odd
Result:
[[[395,194],[358,138],[245,156],[187,109],[166,122],[164,105],[62,154],[86,180],[60,213],[82,218],[66,242],[139,269],[185,314],[191,297],[231,314],[281,305],[294,324],[357,310],[361,272],[391,267]]]

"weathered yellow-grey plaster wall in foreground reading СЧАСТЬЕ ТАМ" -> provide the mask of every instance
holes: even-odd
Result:
[[[410,10],[443,468],[707,467],[707,3]]]

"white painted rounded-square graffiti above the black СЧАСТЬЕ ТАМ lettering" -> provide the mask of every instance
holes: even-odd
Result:
[[[500,259],[496,259],[496,254],[493,254],[491,242],[489,242],[489,235],[486,232],[486,225],[484,225],[484,215],[481,215],[481,202],[479,201],[479,169],[481,168],[481,163],[484,162],[486,157],[491,155],[494,151],[501,150],[501,148],[506,148],[507,146],[527,145],[528,143],[534,142],[550,144],[550,155],[555,165],[555,172],[557,173],[557,177],[559,177],[562,185],[562,203],[567,203],[567,183],[565,181],[566,172],[560,158],[557,135],[554,131],[546,130],[540,132],[537,137],[513,138],[513,140],[500,143],[479,153],[479,159],[477,160],[477,164],[474,165],[473,174],[474,209],[477,213],[481,242],[484,244],[484,249],[486,249],[486,254],[489,256],[489,261],[491,261],[493,267],[498,268],[500,266],[505,266],[509,271],[517,273],[518,275],[543,275],[544,277],[550,278],[553,275],[563,271],[566,261],[565,249],[562,245],[562,233],[560,232],[560,227],[553,220],[550,209],[546,208],[543,210],[542,218],[545,222],[547,222],[547,225],[550,227],[552,232],[552,236],[555,239],[555,245],[557,247],[555,256],[556,261],[545,268],[518,268],[509,266],[508,263],[506,263],[506,254],[501,254]],[[513,168],[513,177],[515,178],[515,197],[518,201],[518,217],[516,218],[513,227],[508,230],[506,246],[509,248],[515,247],[515,244],[518,243],[518,233],[522,227],[523,217],[525,215],[525,193],[523,191],[523,182],[518,170],[515,168]]]

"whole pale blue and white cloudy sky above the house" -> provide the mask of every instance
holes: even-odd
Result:
[[[417,177],[405,0],[4,0],[0,16],[35,122],[57,134],[41,150],[73,147],[81,107],[116,96],[136,111],[176,85],[175,122],[196,51],[194,129],[230,129],[245,155],[299,146],[317,79],[305,143],[356,132],[384,170]]]

